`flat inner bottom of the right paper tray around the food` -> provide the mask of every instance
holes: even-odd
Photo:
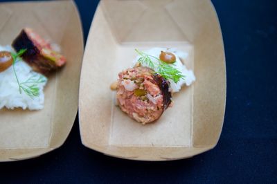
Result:
[[[143,47],[144,46],[144,47]],[[114,58],[113,76],[114,80],[118,76],[118,73],[123,68],[132,67],[132,60],[136,57],[134,48],[139,50],[146,50],[154,46],[161,47],[175,47],[181,50],[185,50],[189,53],[190,57],[186,59],[186,63],[190,68],[193,68],[193,48],[188,43],[152,43],[152,44],[123,44],[117,49],[116,58]],[[111,66],[110,66],[111,67]],[[103,68],[104,69],[104,68]],[[96,84],[97,85],[97,84]],[[142,126],[136,121],[127,118],[126,114],[120,111],[115,106],[114,100],[111,100],[111,129],[109,136],[109,145],[124,145],[124,146],[184,146],[189,147],[191,145],[191,109],[192,109],[192,90],[193,88],[184,88],[180,93],[173,96],[176,101],[174,108],[167,109],[157,123]],[[111,91],[110,91],[111,93]],[[109,94],[112,98],[115,98],[115,94]],[[178,103],[178,101],[187,103]],[[176,111],[179,109],[179,111]],[[164,131],[164,130],[167,131]],[[154,134],[153,134],[154,133]]]

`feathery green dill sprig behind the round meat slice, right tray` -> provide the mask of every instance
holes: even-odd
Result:
[[[173,80],[175,83],[179,82],[180,79],[185,79],[185,76],[182,75],[181,71],[173,67],[174,64],[168,64],[166,62],[163,62],[158,57],[154,57],[153,55],[148,55],[138,49],[135,49],[135,50],[136,50],[136,53],[138,53],[141,56],[138,59],[139,63],[141,63],[142,65],[147,65],[149,68],[151,68],[154,71],[156,69],[157,73],[159,73],[159,75],[161,75],[165,79]],[[158,63],[153,62],[150,57],[156,59]]]

